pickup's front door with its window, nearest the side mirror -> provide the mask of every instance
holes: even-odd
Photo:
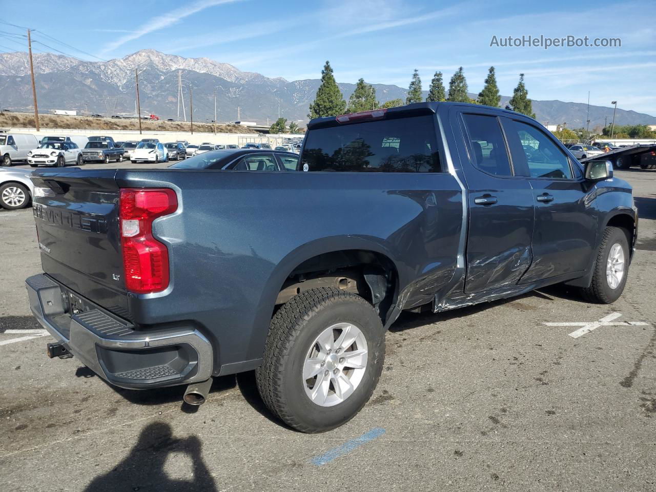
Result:
[[[530,121],[503,118],[518,173],[533,189],[533,264],[522,283],[588,268],[595,247],[597,216],[593,188],[556,140]]]

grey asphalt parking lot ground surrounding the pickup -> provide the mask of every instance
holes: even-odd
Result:
[[[0,210],[3,488],[655,489],[656,171],[617,176],[640,214],[623,297],[588,304],[550,287],[403,314],[369,403],[314,435],[281,425],[252,373],[217,378],[194,412],[184,388],[121,390],[76,358],[46,358],[24,290],[41,271],[31,210]]]

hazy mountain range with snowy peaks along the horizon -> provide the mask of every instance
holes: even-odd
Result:
[[[108,62],[89,62],[52,53],[33,55],[39,111],[77,110],[79,113],[134,113],[135,70],[138,72],[142,113],[178,119],[178,73],[183,84],[184,106],[189,118],[193,91],[194,120],[272,123],[277,115],[289,121],[307,119],[308,106],[321,83],[319,79],[287,81],[260,73],[243,72],[209,58],[184,58],[145,49]],[[428,81],[424,81],[428,85]],[[355,84],[339,83],[348,97]],[[396,85],[373,84],[380,102],[401,98],[407,90]],[[529,87],[530,91],[530,87]],[[427,92],[424,91],[424,97]],[[475,98],[476,94],[470,94]],[[510,99],[502,96],[501,106]],[[25,111],[32,108],[30,63],[26,52],[0,53],[0,109]],[[239,108],[239,110],[237,110]],[[180,119],[183,117],[180,104]],[[543,124],[567,123],[569,128],[586,125],[587,105],[560,100],[533,100],[533,111]],[[590,106],[590,129],[610,123],[613,108]],[[616,125],[656,124],[656,117],[618,109]]]

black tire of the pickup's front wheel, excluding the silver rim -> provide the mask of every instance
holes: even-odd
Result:
[[[619,285],[615,289],[612,289],[606,277],[606,266],[608,255],[613,245],[616,244],[619,244],[624,252],[624,275]],[[626,277],[628,277],[628,263],[629,249],[625,230],[618,227],[605,228],[593,266],[592,282],[590,283],[590,287],[581,289],[581,294],[585,300],[596,304],[611,304],[615,302],[624,291]]]

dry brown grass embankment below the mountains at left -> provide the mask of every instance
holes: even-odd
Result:
[[[132,130],[138,131],[139,122],[136,119],[92,118],[90,116],[64,116],[39,114],[41,128],[61,128],[71,130]],[[34,128],[34,115],[31,113],[0,112],[0,128]],[[142,120],[143,131],[186,132],[190,123],[184,121],[150,121]],[[214,125],[194,123],[194,131],[213,133]],[[256,133],[241,125],[216,125],[217,133]]]

